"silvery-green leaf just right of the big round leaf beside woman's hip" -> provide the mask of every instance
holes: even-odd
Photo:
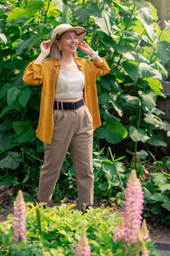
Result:
[[[137,129],[134,126],[129,127],[129,136],[135,143],[139,141],[145,143],[149,139],[149,137],[145,135],[145,131],[143,129],[141,128]]]

